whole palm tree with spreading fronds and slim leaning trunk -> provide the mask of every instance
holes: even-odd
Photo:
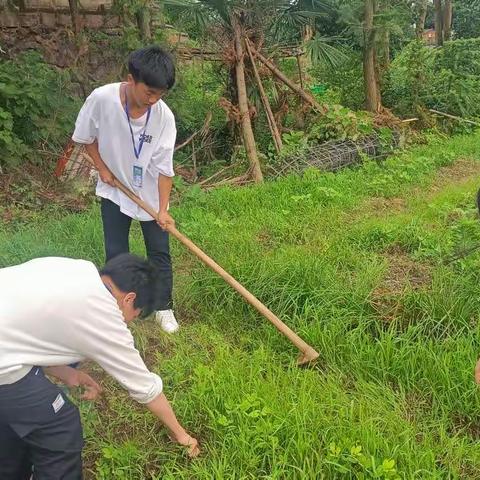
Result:
[[[214,39],[217,47],[233,64],[232,77],[235,78],[235,100],[238,101],[243,142],[252,177],[256,182],[262,181],[263,175],[249,114],[247,92],[253,89],[247,88],[250,79],[247,77],[244,62],[248,53],[246,39],[256,49],[279,42],[298,42],[305,25],[311,25],[316,16],[324,14],[327,7],[330,8],[329,1],[165,0],[162,3],[182,9],[184,17],[193,19],[203,32],[208,32],[209,38]],[[309,53],[322,58],[318,52],[322,51],[323,46],[324,43],[317,38]],[[331,51],[329,54],[333,58]],[[324,55],[325,57],[328,58],[328,55]],[[272,66],[270,64],[270,67]],[[275,74],[275,68],[270,69]]]

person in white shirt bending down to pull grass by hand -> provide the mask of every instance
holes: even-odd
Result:
[[[199,453],[198,442],[177,421],[162,380],[136,350],[127,325],[154,308],[156,273],[122,254],[98,272],[85,260],[39,258],[0,269],[0,479],[82,478],[78,409],[46,375],[101,387],[66,365],[90,359],[144,404],[170,437]]]

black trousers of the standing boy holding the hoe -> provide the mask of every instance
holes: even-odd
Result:
[[[103,236],[105,239],[105,256],[107,261],[130,250],[128,235],[132,219],[120,211],[120,207],[102,198]],[[155,310],[172,308],[172,259],[168,233],[163,231],[154,220],[140,222],[147,257],[158,271]]]

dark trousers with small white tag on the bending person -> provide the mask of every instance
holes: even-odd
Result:
[[[0,385],[1,480],[81,480],[82,448],[77,407],[41,368]]]

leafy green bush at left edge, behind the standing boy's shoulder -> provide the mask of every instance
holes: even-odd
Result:
[[[68,72],[35,52],[0,63],[0,167],[18,165],[34,149],[58,151],[73,129],[79,101]]]

